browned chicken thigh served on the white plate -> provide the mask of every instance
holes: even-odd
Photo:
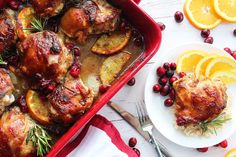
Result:
[[[226,86],[220,80],[185,76],[174,82],[177,125],[198,124],[218,117],[227,105]]]

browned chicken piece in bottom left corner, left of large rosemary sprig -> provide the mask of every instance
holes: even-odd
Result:
[[[26,138],[33,125],[32,119],[18,107],[5,112],[0,119],[0,156],[34,156],[35,148],[32,142],[26,144]]]

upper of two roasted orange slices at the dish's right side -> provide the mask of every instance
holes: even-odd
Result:
[[[122,50],[129,42],[131,31],[112,32],[102,35],[93,45],[92,52],[103,55],[111,55]]]

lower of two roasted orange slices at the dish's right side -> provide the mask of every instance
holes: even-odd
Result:
[[[131,54],[120,52],[114,56],[108,57],[100,69],[100,78],[103,84],[110,84],[123,69],[124,65],[130,59]]]

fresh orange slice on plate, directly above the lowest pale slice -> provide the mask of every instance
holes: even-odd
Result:
[[[231,71],[236,69],[236,61],[230,57],[219,56],[212,59],[206,67],[205,76],[211,77],[219,71]]]

